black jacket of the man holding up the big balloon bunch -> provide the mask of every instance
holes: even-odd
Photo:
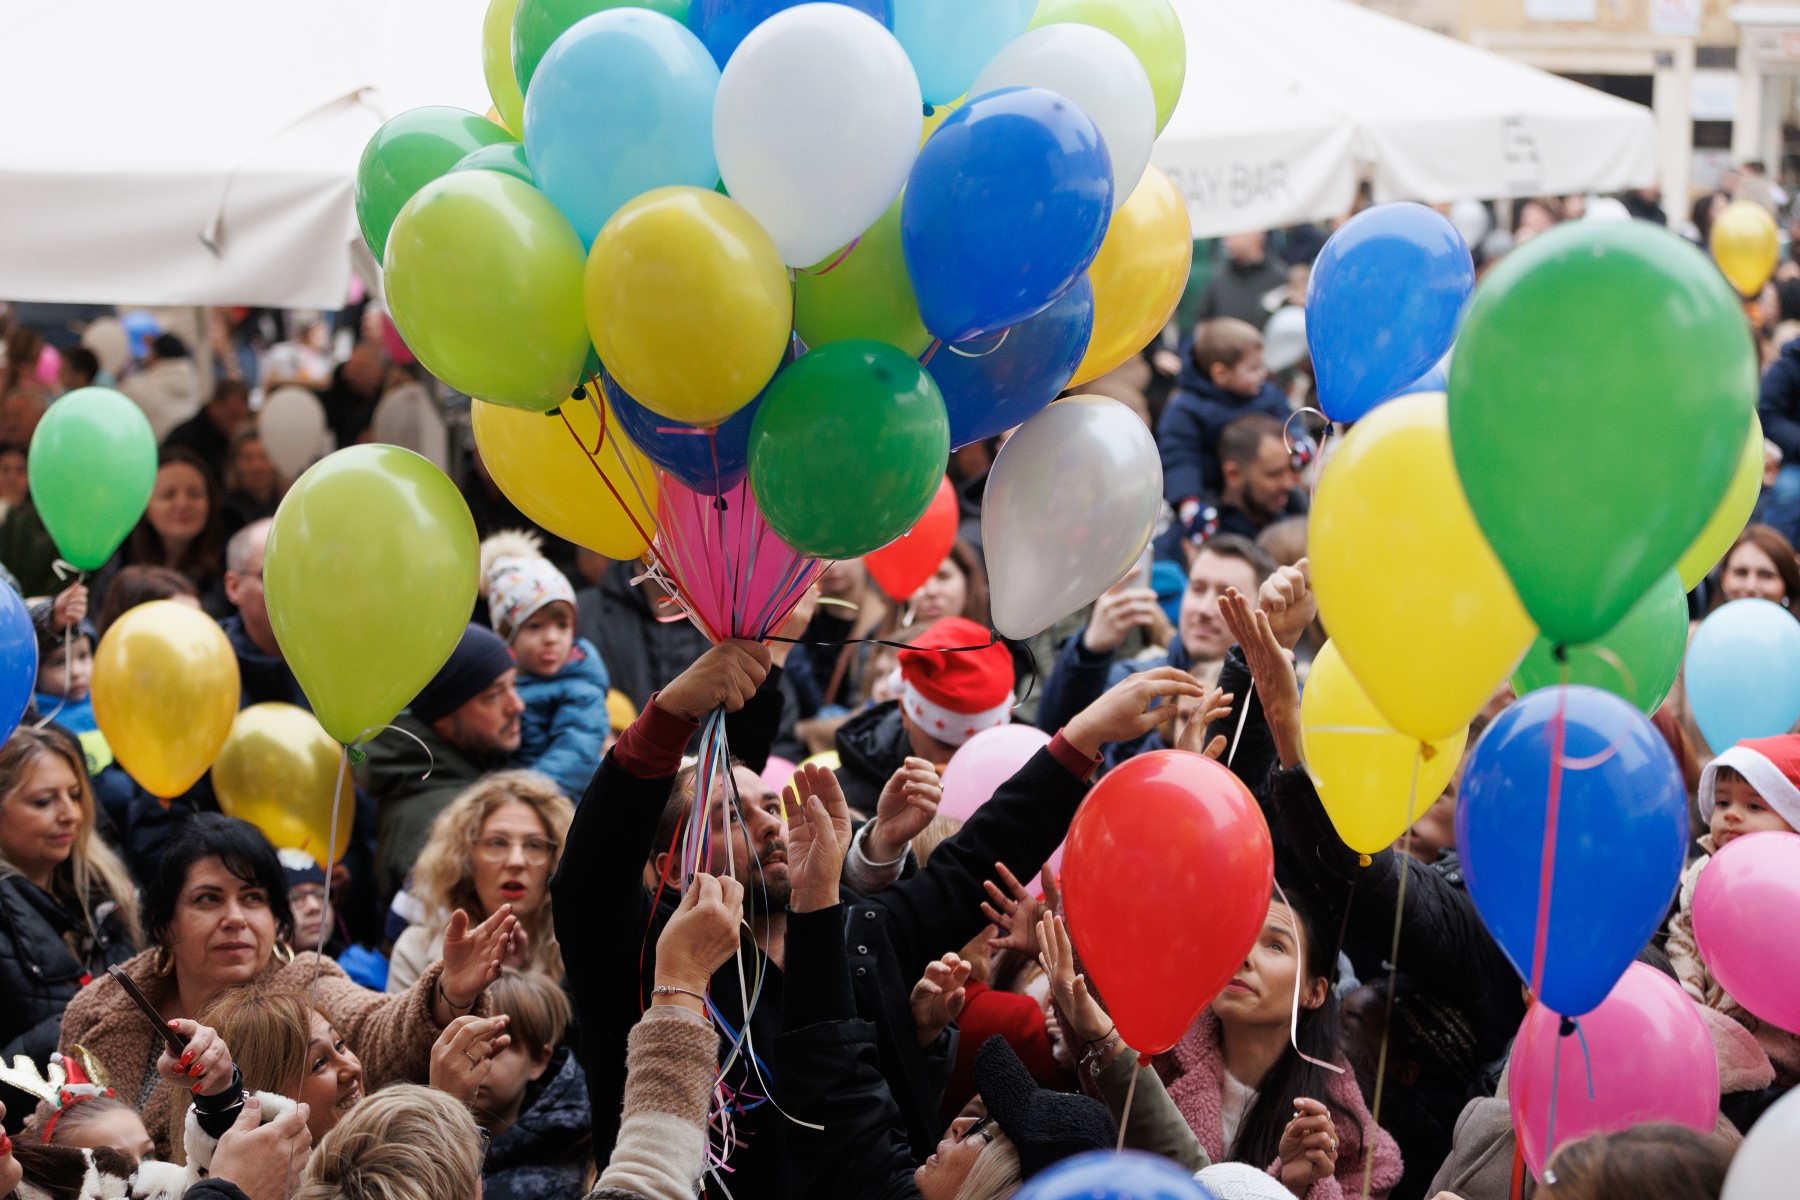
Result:
[[[767,684],[738,716],[769,707],[776,689]],[[621,747],[648,738],[657,745],[686,741],[686,721],[661,709],[648,709],[626,730]],[[653,979],[653,946],[679,901],[675,889],[661,898],[643,885],[657,822],[670,799],[673,766],[655,779],[639,779],[619,765],[616,747],[599,765],[587,795],[576,808],[563,862],[551,885],[556,900],[556,937],[563,948],[569,986],[581,1024],[581,1065],[594,1106],[594,1148],[605,1155],[616,1135],[625,1092],[625,1042],[646,1002]],[[931,1061],[913,1033],[909,995],[925,964],[967,945],[983,925],[983,883],[994,864],[1004,862],[1019,878],[1030,878],[1064,838],[1087,784],[1058,759],[1080,757],[1067,743],[1040,750],[999,788],[963,829],[931,858],[931,865],[869,900],[848,909],[844,941],[853,973],[857,1013],[877,1027],[882,1074],[905,1119],[913,1151],[923,1160],[938,1144],[938,1099],[943,1063]],[[1084,765],[1085,766],[1085,765]],[[607,919],[594,919],[607,914]],[[751,1038],[767,1070],[769,1054],[781,1033],[783,975],[761,959],[754,943],[743,945],[749,977],[761,977],[761,997],[751,1016]],[[760,961],[761,959],[761,961]],[[637,963],[639,986],[621,981],[619,964]],[[743,1000],[738,964],[727,963],[711,986],[713,1004],[731,1029],[742,1027]],[[742,1058],[727,1083],[760,1092],[760,1078],[743,1079]],[[774,1072],[776,1099],[785,1101],[785,1083]],[[792,1112],[792,1110],[790,1110]],[[734,1130],[745,1146],[733,1151],[731,1189],[743,1196],[787,1196],[790,1187],[792,1124],[774,1105],[740,1114]],[[841,1195],[855,1195],[844,1191]]]

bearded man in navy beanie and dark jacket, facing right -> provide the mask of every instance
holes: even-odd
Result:
[[[358,774],[380,810],[374,871],[383,903],[412,871],[437,813],[518,748],[526,703],[513,687],[517,676],[500,635],[470,624],[394,729],[367,745]]]

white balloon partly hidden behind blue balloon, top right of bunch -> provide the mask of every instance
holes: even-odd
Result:
[[[1112,157],[1112,209],[1138,187],[1156,142],[1156,92],[1130,49],[1103,29],[1057,23],[1013,38],[988,59],[970,95],[1044,88],[1075,101]]]

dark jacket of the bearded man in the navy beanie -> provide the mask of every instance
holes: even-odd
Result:
[[[437,813],[463,788],[506,766],[504,757],[473,759],[410,712],[394,718],[394,725],[418,741],[387,730],[367,745],[369,757],[356,770],[358,783],[376,806],[374,878],[382,907],[407,882],[407,873],[432,837]],[[419,743],[425,743],[423,748]]]

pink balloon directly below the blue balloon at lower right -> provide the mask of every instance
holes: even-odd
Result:
[[[1534,1004],[1512,1043],[1507,1097],[1534,1177],[1543,1177],[1555,1146],[1589,1133],[1647,1121],[1712,1132],[1719,1121],[1719,1060],[1706,1022],[1681,984],[1633,963],[1600,1007],[1577,1018],[1579,1034],[1559,1036],[1561,1022],[1557,1013]],[[1546,1144],[1552,1137],[1553,1144]]]

